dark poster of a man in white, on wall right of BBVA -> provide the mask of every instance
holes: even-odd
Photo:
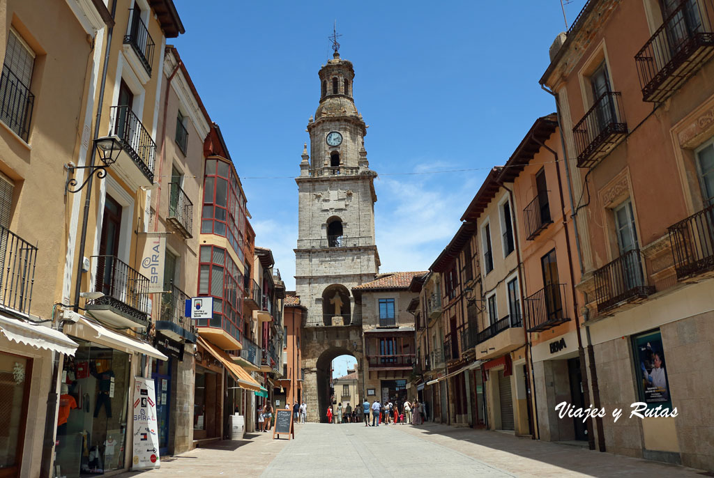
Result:
[[[659,331],[635,338],[635,370],[642,382],[645,403],[669,402],[669,385],[665,368],[662,335]]]

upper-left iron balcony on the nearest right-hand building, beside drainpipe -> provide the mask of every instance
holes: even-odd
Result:
[[[618,146],[628,133],[622,96],[605,91],[573,128],[578,168],[590,168]]]

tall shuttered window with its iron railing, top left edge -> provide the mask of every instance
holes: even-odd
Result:
[[[34,51],[11,28],[0,79],[0,121],[24,141],[29,139],[35,99],[30,93],[34,63]]]

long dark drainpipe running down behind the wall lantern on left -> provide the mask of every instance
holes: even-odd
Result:
[[[114,15],[116,14],[116,0],[111,4],[111,19],[114,20]],[[111,34],[114,31],[114,22],[107,29],[106,34],[106,48],[104,49],[104,68],[101,73],[101,85],[99,86],[99,103],[97,103],[96,108],[96,120],[94,122],[94,139],[99,138],[99,123],[101,121],[101,108],[104,103],[104,89],[106,86],[106,72],[109,68],[109,49],[111,47]],[[94,166],[94,160],[96,158],[96,147],[94,146],[94,141],[92,141],[91,155],[89,159],[89,166]],[[91,170],[90,170],[91,171]],[[87,221],[89,220],[89,208],[91,205],[91,190],[92,183],[94,182],[94,174],[89,174],[89,179],[87,180],[87,192],[84,199],[84,217],[82,219],[82,233],[79,240],[79,259],[77,260],[77,279],[74,285],[74,312],[79,312],[79,293],[81,290],[82,283],[82,266],[84,263],[84,248],[86,245],[86,235],[87,235]],[[62,332],[64,329],[64,322],[59,322],[58,329]],[[51,475],[51,464],[54,461],[52,455],[54,454],[54,444],[56,440],[56,422],[55,415],[57,413],[57,405],[59,402],[59,394],[57,393],[57,381],[59,380],[59,354],[57,352],[52,353],[53,357],[53,367],[52,367],[52,382],[50,384],[50,391],[47,394],[47,412],[45,416],[45,431],[44,431],[44,444],[42,447],[42,462],[40,467],[40,477],[49,478]]]

